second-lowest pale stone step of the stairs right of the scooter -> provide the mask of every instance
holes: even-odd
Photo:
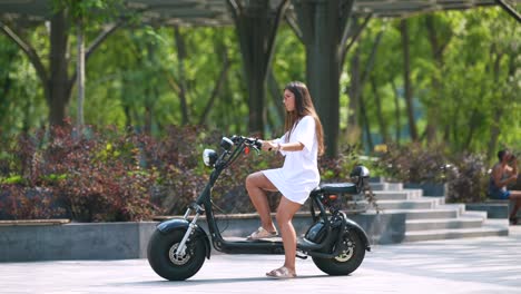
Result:
[[[446,229],[446,228],[475,228],[483,225],[483,219],[472,217],[409,219],[405,222],[405,232]]]

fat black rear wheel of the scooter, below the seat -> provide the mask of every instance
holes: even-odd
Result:
[[[333,248],[334,249],[334,248]],[[355,232],[343,237],[342,252],[334,258],[313,257],[315,265],[328,275],[348,275],[362,264],[365,257],[365,246]]]

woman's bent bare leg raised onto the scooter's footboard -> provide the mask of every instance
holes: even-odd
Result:
[[[277,188],[262,171],[257,171],[246,177],[246,189],[255,209],[257,209],[263,228],[267,232],[275,232],[265,190],[277,190]]]

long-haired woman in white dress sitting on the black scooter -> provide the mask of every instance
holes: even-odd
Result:
[[[296,276],[296,234],[292,219],[321,180],[317,157],[324,153],[322,124],[316,115],[307,87],[299,81],[289,82],[284,89],[286,108],[285,134],[275,140],[263,141],[263,150],[278,151],[285,156],[282,168],[254,173],[246,178],[249,198],[260,216],[260,227],[248,236],[259,239],[277,236],[266,190],[283,195],[276,220],[281,231],[285,262],[267,276],[289,278]]]

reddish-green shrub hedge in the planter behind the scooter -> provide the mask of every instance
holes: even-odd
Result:
[[[110,127],[88,127],[79,136],[68,125],[12,137],[0,146],[0,219],[126,222],[183,214],[210,174],[201,151],[218,149],[222,136],[195,126],[171,126],[161,138]],[[357,158],[353,148],[345,154],[321,159],[324,180],[348,179]],[[282,163],[275,154],[244,155],[213,190],[217,209],[255,212],[244,179]],[[278,198],[268,195],[272,209]]]

